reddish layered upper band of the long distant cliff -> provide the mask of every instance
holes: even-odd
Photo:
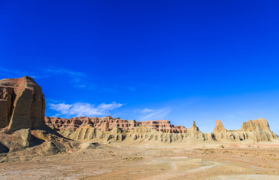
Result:
[[[137,127],[146,127],[156,129],[158,131],[167,133],[185,133],[187,128],[183,125],[172,125],[169,120],[148,120],[148,121],[135,121],[125,120],[120,118],[113,118],[111,116],[105,117],[72,117],[69,119],[59,117],[45,117],[45,123],[51,128],[59,130],[71,129],[74,130],[80,127],[91,126],[103,131],[108,131],[114,127],[122,129],[134,129]]]

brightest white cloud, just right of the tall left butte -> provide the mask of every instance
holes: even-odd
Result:
[[[72,104],[65,103],[50,103],[50,109],[58,111],[60,114],[67,116],[94,116],[108,115],[109,110],[113,110],[123,104],[112,102],[109,104],[101,103],[97,106],[87,102],[75,102]]]

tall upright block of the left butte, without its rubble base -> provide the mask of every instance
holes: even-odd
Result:
[[[42,128],[44,95],[28,76],[0,80],[0,128],[9,133],[21,128]]]

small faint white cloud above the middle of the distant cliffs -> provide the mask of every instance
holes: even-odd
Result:
[[[170,112],[170,110],[171,110],[170,107],[164,107],[164,108],[160,108],[160,109],[149,109],[149,108],[138,109],[138,111],[140,113],[144,114],[144,115],[141,115],[138,120],[163,119]]]

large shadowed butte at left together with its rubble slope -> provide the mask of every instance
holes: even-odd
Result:
[[[44,123],[44,109],[41,87],[31,77],[0,80],[0,153],[31,148],[50,155],[73,149],[77,142]]]

